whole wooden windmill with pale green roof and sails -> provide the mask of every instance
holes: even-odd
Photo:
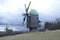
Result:
[[[23,18],[23,23],[26,20],[27,23],[27,28],[29,28],[29,30],[33,30],[33,29],[37,29],[39,26],[39,15],[37,14],[37,12],[35,10],[31,10],[31,12],[29,13],[29,7],[30,7],[31,1],[29,2],[28,7],[26,7],[25,4],[25,11],[26,13],[24,14],[24,18]]]

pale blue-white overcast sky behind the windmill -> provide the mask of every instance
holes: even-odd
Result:
[[[0,17],[4,18],[4,22],[10,19],[16,21],[19,18],[22,21],[22,14],[25,13],[24,4],[28,5],[29,1],[30,9],[38,11],[41,21],[52,21],[60,17],[60,0],[0,0]]]

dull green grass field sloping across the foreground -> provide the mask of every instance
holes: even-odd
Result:
[[[4,36],[0,40],[60,40],[60,30]]]

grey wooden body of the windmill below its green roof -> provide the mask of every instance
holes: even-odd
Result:
[[[38,15],[32,15],[27,18],[27,28],[30,30],[37,29],[39,27],[39,16]]]

